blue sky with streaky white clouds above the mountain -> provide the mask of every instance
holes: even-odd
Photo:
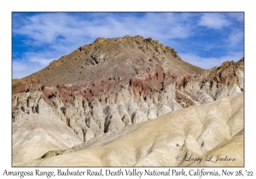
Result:
[[[96,38],[153,38],[208,69],[244,56],[243,13],[12,13],[13,78]]]

